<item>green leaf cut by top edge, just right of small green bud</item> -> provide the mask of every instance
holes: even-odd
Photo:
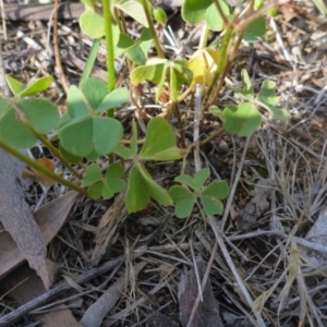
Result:
[[[182,19],[190,24],[199,23],[206,13],[211,0],[184,0],[182,4]]]

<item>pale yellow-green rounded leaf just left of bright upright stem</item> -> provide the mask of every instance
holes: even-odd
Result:
[[[84,34],[92,38],[105,35],[105,20],[93,10],[86,10],[80,16],[80,26]]]

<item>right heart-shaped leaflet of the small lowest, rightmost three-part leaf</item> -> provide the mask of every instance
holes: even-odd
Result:
[[[199,198],[207,215],[221,215],[223,213],[223,204],[220,199],[227,197],[229,186],[226,181],[214,181],[202,192]]]

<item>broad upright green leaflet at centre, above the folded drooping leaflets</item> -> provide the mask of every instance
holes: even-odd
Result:
[[[146,137],[140,158],[142,160],[177,160],[183,157],[182,149],[175,146],[175,135],[164,118],[154,118],[147,125]]]

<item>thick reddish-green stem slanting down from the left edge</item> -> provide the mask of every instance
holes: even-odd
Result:
[[[16,157],[17,159],[20,159],[21,161],[25,162],[26,165],[28,165],[29,167],[34,168],[35,170],[41,172],[43,174],[49,177],[50,179],[52,179],[53,181],[70,187],[72,190],[75,190],[76,192],[89,197],[89,195],[87,194],[87,191],[80,187],[78,185],[74,184],[71,181],[68,181],[65,179],[63,179],[62,177],[60,177],[59,174],[48,170],[46,167],[37,164],[35,160],[28,158],[27,156],[23,155],[21,152],[19,152],[17,149],[15,149],[14,147],[8,145],[7,143],[4,143],[3,141],[0,140],[0,147],[3,148],[5,152],[8,152],[9,154],[11,154],[12,156]]]

